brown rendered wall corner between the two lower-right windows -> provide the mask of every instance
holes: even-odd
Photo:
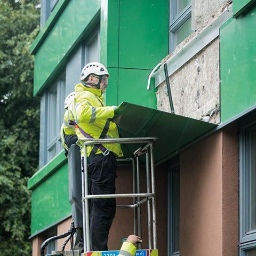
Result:
[[[180,255],[238,255],[237,127],[180,154]]]

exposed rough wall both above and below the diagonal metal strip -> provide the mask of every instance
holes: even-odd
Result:
[[[192,1],[191,19],[195,32],[182,41],[162,62],[181,52],[183,46],[190,43],[217,19],[230,3],[230,0]],[[220,123],[219,52],[219,37],[217,37],[177,71],[169,74],[175,114],[215,124]],[[166,82],[160,84],[157,89],[158,109],[170,111]]]

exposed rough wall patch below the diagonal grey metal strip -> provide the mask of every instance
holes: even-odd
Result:
[[[175,114],[219,123],[219,39],[169,77]],[[158,86],[157,107],[170,112],[166,83]],[[208,121],[206,119],[206,121]]]

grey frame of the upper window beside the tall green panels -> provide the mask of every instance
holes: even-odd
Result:
[[[189,4],[180,13],[176,13],[177,1],[170,0],[170,24],[169,24],[169,53],[175,50],[175,33],[178,29],[191,18],[192,4]]]

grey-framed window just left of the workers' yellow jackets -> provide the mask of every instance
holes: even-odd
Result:
[[[62,76],[47,92],[47,162],[62,149],[60,127],[63,122],[64,101],[65,76]]]

